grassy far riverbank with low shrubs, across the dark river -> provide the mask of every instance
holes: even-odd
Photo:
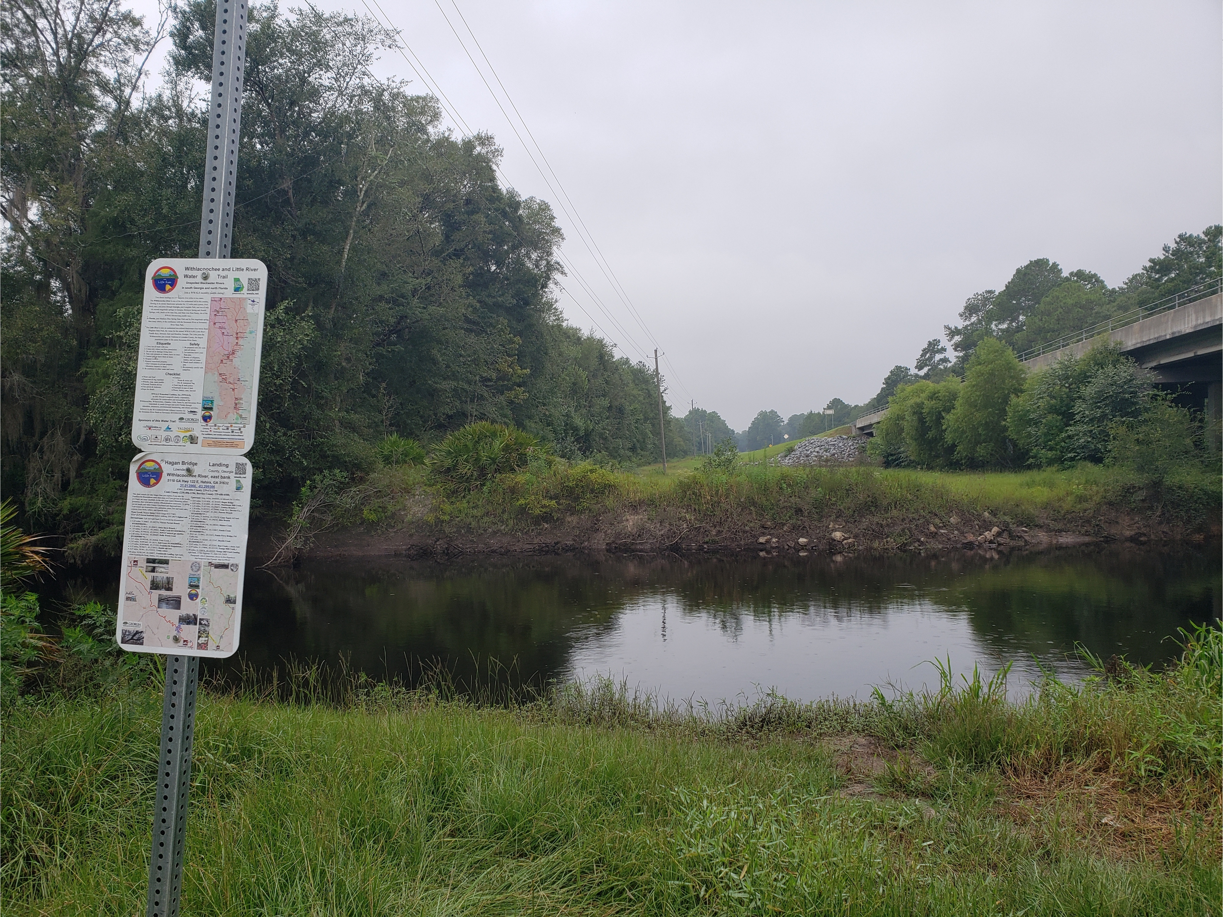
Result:
[[[1218,474],[1186,472],[1153,485],[1125,468],[925,472],[872,466],[671,473],[553,463],[501,474],[475,490],[448,490],[423,468],[369,477],[331,544],[361,550],[351,526],[378,544],[497,544],[514,550],[565,543],[609,550],[744,549],[762,534],[796,549],[960,547],[993,527],[997,544],[1049,543],[1059,533],[1101,538],[1179,538],[1218,532]],[[500,538],[500,542],[497,539]],[[1043,539],[1043,540],[1042,540]],[[302,539],[302,544],[309,538]],[[324,539],[324,545],[327,544]]]

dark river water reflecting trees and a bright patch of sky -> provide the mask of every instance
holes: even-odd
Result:
[[[110,599],[113,602],[113,599]],[[1190,621],[1218,619],[1218,548],[1063,550],[982,560],[479,559],[314,562],[246,580],[238,655],[210,666],[334,661],[411,682],[440,659],[470,677],[488,658],[521,676],[610,674],[707,701],[775,687],[865,696],[1014,661],[1022,691],[1047,666],[1080,677],[1076,644],[1162,664]]]

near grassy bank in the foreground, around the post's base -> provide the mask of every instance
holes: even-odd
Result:
[[[1221,655],[1024,704],[205,692],[183,913],[1217,913]],[[159,709],[5,712],[6,913],[142,906]]]

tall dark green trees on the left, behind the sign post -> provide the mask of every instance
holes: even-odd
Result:
[[[0,473],[28,525],[82,550],[119,543],[144,267],[198,246],[214,10],[188,0],[149,27],[108,0],[0,12]],[[456,137],[434,98],[371,75],[395,40],[249,7],[231,254],[270,271],[254,511],[369,470],[388,436],[472,422],[563,457],[657,461],[653,369],[563,320],[552,208],[498,181],[492,134]],[[669,407],[665,427],[669,455],[691,451]]]

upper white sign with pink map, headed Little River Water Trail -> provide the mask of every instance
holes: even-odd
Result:
[[[243,454],[254,444],[268,268],[163,258],[144,276],[132,443]]]

